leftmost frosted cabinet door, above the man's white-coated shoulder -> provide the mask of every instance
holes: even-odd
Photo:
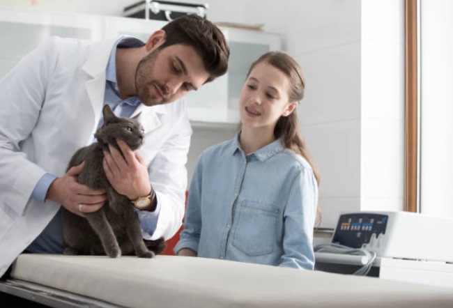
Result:
[[[102,40],[102,18],[34,10],[0,10],[0,78],[52,36]]]

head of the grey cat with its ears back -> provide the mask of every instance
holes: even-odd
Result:
[[[102,108],[104,124],[95,132],[94,137],[104,146],[113,144],[118,148],[116,139],[125,141],[131,150],[136,150],[143,144],[144,130],[137,116],[133,118],[121,118],[116,116],[109,105]]]

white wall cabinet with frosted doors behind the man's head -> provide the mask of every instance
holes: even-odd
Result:
[[[22,56],[51,36],[100,41],[128,35],[146,41],[165,23],[130,17],[0,9],[0,77]],[[220,29],[231,50],[229,70],[224,76],[187,95],[188,113],[194,125],[239,123],[238,97],[250,64],[264,52],[281,48],[280,36],[274,33]]]

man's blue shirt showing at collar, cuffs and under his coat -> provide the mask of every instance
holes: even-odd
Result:
[[[136,38],[121,37],[116,41],[114,47],[112,48],[112,52],[110,53],[106,69],[104,105],[108,104],[117,116],[132,116],[135,109],[137,109],[137,107],[141,104],[141,101],[137,98],[137,96],[132,96],[130,98],[126,98],[125,100],[122,100],[119,97],[118,84],[116,82],[116,47],[127,48],[140,47],[143,45],[144,43]],[[101,116],[98,128],[102,125],[102,123],[103,118]],[[95,139],[93,139],[93,141],[95,141]],[[56,176],[52,174],[45,174],[38,181],[31,197],[38,201],[45,202],[47,190],[49,190],[50,185],[55,179]],[[149,236],[151,236],[155,231],[158,224],[160,204],[158,203],[154,212],[136,211],[139,215],[142,233],[144,233],[144,237],[149,238]],[[64,250],[63,238],[61,236],[62,223],[60,209],[43,232],[40,233],[40,236],[31,242],[31,245],[29,245],[26,250],[35,253],[62,254]],[[148,233],[148,236],[146,233]]]

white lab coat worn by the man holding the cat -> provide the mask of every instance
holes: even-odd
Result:
[[[52,38],[0,81],[0,276],[59,209],[31,199],[38,180],[46,172],[63,176],[72,154],[93,141],[114,42]],[[139,151],[160,204],[152,239],[168,239],[184,214],[192,134],[186,102],[139,112],[146,134]]]

